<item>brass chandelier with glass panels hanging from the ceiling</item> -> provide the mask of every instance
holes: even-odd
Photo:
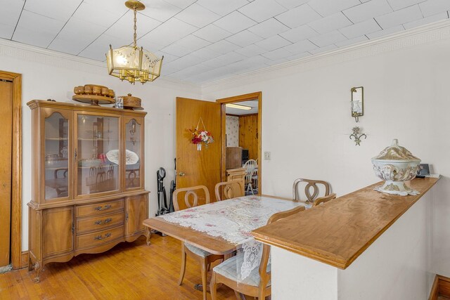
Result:
[[[131,84],[136,81],[145,84],[147,81],[153,81],[160,77],[164,56],[158,58],[155,54],[142,47],[139,48],[136,44],[136,11],[142,11],[146,6],[136,0],[125,2],[125,6],[134,11],[134,43],[133,46],[122,46],[117,49],[113,49],[110,45],[110,50],[106,53],[108,72]]]

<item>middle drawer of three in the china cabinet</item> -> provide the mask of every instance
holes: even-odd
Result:
[[[103,230],[106,228],[123,225],[123,223],[124,211],[118,211],[114,214],[103,214],[101,216],[77,218],[77,234]]]

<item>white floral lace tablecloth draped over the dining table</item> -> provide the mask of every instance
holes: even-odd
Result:
[[[244,259],[242,266],[237,268],[240,268],[240,278],[245,279],[259,265],[262,256],[262,244],[252,237],[250,231],[266,225],[273,214],[298,205],[304,204],[264,196],[245,196],[175,211],[157,218],[213,237],[222,237],[238,248],[241,245]]]

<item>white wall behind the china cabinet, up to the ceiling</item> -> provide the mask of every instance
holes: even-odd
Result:
[[[18,46],[14,48],[12,46]],[[25,49],[23,49],[25,48]],[[74,86],[101,84],[113,89],[117,96],[132,93],[142,99],[142,106],[148,112],[146,116],[146,190],[150,190],[150,216],[158,209],[156,191],[156,171],[159,167],[167,170],[165,185],[169,190],[174,178],[175,157],[175,98],[199,98],[200,89],[186,84],[176,84],[158,79],[154,82],[135,86],[127,81],[108,75],[105,67],[72,60],[70,56],[60,54],[45,55],[14,43],[0,44],[0,69],[23,75],[23,216],[22,249],[28,249],[28,209],[31,200],[31,110],[26,103],[32,99],[52,98],[61,102],[72,101]],[[58,57],[59,56],[59,57]],[[88,60],[85,60],[88,61]]]

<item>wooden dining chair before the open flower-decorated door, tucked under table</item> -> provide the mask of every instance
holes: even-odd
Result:
[[[184,203],[186,207],[196,207],[198,205],[198,191],[203,190],[205,193],[205,202],[210,203],[210,192],[205,185],[197,185],[192,188],[177,188],[174,191],[174,209],[179,211],[179,193],[186,192],[184,194]],[[223,255],[211,254],[203,249],[195,247],[192,244],[185,243],[181,241],[181,271],[180,278],[178,280],[178,285],[183,283],[184,273],[186,272],[186,255],[192,257],[195,261],[200,263],[200,270],[202,275],[202,285],[203,285],[203,300],[206,300],[206,287],[207,287],[207,271],[210,269],[211,263],[217,261],[218,259],[224,259]]]

